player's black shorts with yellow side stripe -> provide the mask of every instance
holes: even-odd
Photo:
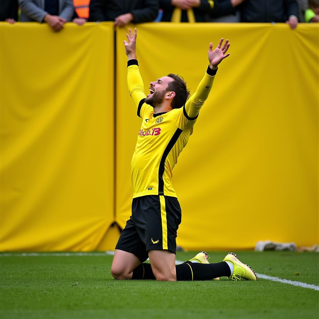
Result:
[[[115,249],[133,253],[143,263],[152,249],[167,249],[176,254],[176,236],[182,221],[176,197],[146,195],[133,198],[132,216]]]

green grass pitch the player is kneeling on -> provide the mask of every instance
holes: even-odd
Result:
[[[196,253],[178,252],[176,259],[188,260]],[[257,273],[319,285],[318,253],[237,253]],[[209,254],[210,262],[226,255]],[[319,317],[319,291],[313,289],[226,277],[201,282],[118,281],[110,275],[112,258],[0,254],[1,318]]]

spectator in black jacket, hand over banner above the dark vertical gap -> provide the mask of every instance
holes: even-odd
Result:
[[[114,26],[123,27],[154,21],[158,9],[158,0],[91,0],[89,21],[114,21]]]

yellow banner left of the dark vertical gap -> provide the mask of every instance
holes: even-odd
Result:
[[[114,220],[113,24],[0,32],[0,250],[96,249]]]

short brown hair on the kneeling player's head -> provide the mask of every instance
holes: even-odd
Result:
[[[166,92],[175,92],[175,96],[171,102],[171,106],[172,108],[181,108],[182,106],[184,106],[190,96],[189,90],[186,86],[186,82],[184,81],[183,77],[180,77],[178,74],[176,75],[170,73],[167,76],[174,79],[174,81],[168,83],[166,89]]]

